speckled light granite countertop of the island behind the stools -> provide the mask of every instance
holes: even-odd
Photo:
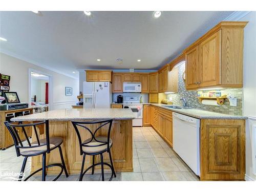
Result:
[[[46,119],[49,119],[49,121],[126,120],[135,119],[135,115],[130,109],[62,109],[14,117],[11,121],[41,121]]]

